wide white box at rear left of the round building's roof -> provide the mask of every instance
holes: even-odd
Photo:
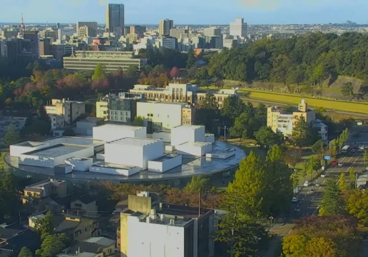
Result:
[[[114,141],[121,138],[145,138],[147,129],[141,126],[106,124],[93,127],[93,139]]]

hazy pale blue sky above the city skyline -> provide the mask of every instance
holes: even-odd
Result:
[[[98,21],[108,3],[125,4],[126,24],[228,24],[240,16],[249,24],[366,24],[368,0],[0,0],[0,22]]]

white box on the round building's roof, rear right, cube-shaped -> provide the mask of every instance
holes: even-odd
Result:
[[[205,126],[177,126],[171,129],[171,145],[188,142],[205,142]]]

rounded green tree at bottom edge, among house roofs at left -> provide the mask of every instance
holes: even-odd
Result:
[[[53,257],[66,247],[65,234],[48,234],[42,241],[41,248],[36,250],[36,255],[40,257]]]

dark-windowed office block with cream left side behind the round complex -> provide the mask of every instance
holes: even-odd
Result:
[[[105,121],[131,123],[137,116],[137,103],[142,100],[144,96],[141,94],[108,94],[96,102],[96,117]]]

